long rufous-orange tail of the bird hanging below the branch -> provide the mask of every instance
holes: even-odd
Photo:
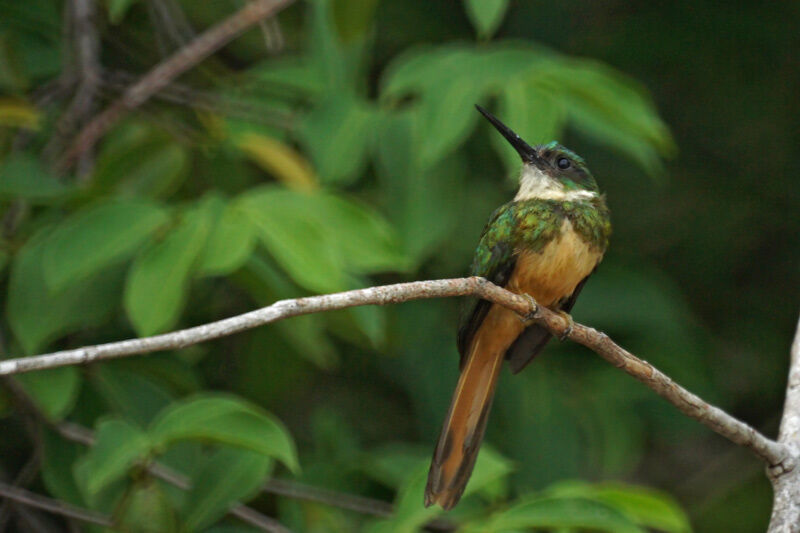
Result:
[[[425,506],[445,510],[461,498],[478,456],[507,346],[482,327],[461,371],[425,488]]]

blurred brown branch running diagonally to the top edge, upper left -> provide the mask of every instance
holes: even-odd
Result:
[[[147,101],[173,79],[225,46],[244,30],[273,15],[291,2],[292,0],[254,0],[249,2],[242,9],[212,26],[191,43],[156,65],[138,82],[129,87],[119,99],[89,121],[67,150],[59,167],[62,170],[68,169],[128,111]]]

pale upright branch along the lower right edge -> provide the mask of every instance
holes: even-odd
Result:
[[[789,379],[778,442],[800,455],[800,319],[790,349]],[[800,532],[800,468],[777,465],[767,470],[774,492],[769,533]]]

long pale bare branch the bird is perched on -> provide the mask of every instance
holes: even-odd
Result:
[[[544,326],[556,337],[563,337],[566,334],[570,340],[593,350],[609,363],[650,387],[684,414],[700,421],[735,444],[749,448],[768,466],[779,468],[781,472],[790,471],[795,466],[797,451],[782,442],[768,439],[718,407],[709,405],[672,381],[650,363],[642,361],[615,344],[605,333],[580,324],[574,324],[569,330],[569,324],[560,314],[537,305],[532,299],[524,298],[478,277],[415,281],[294,300],[281,300],[256,311],[172,333],[0,361],[0,375],[128,357],[159,350],[180,349],[309,313],[360,305],[386,305],[452,296],[477,296],[511,309],[526,321]],[[796,378],[800,383],[800,373]],[[800,398],[797,403],[800,406]],[[795,431],[800,432],[800,417],[797,419]],[[800,469],[798,470],[800,471]]]

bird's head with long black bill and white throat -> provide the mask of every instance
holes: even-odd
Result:
[[[579,200],[600,194],[597,182],[581,156],[555,141],[531,146],[511,128],[500,122],[500,119],[481,106],[475,107],[522,158],[517,200],[528,198]]]

